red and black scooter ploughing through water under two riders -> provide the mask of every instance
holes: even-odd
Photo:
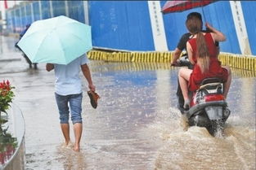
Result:
[[[186,55],[177,60],[177,63],[180,67],[190,65]],[[223,95],[223,88],[224,85],[220,79],[211,77],[204,79],[200,88],[191,93],[189,110],[180,109],[190,126],[205,127],[213,136],[218,132],[222,133],[224,124],[231,113]]]

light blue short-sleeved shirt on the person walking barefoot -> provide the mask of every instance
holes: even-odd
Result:
[[[54,64],[56,76],[55,92],[60,95],[80,94],[82,93],[82,82],[79,76],[81,65],[88,63],[88,57],[83,54],[71,63]]]

